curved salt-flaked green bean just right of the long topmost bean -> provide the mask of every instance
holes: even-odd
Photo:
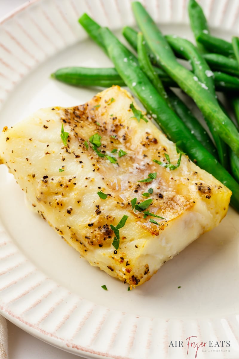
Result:
[[[165,38],[176,54],[190,61],[193,73],[215,96],[213,73],[197,48],[190,41],[178,36],[166,35]]]

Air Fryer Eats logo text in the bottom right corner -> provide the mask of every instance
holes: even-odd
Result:
[[[230,351],[230,340],[209,340],[209,341],[200,341],[196,335],[188,337],[185,341],[183,340],[171,340],[169,343],[169,348],[184,348],[186,347],[187,355],[195,355],[197,359],[197,354],[201,349],[205,352],[226,352]]]

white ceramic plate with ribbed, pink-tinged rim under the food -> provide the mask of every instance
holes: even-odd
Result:
[[[213,33],[239,34],[237,0],[201,3]],[[186,1],[144,5],[163,32],[192,39]],[[97,92],[49,78],[62,66],[112,65],[77,23],[84,11],[115,31],[134,24],[130,0],[36,0],[1,22],[0,127],[40,107],[84,103]],[[218,228],[128,292],[128,286],[80,259],[25,206],[4,166],[0,188],[0,311],[10,321],[86,358],[195,358],[196,348],[190,346],[187,354],[190,336],[206,342],[199,359],[239,358],[239,217],[231,208]]]

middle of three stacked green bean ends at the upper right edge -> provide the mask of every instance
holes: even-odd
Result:
[[[239,67],[236,60],[219,55],[218,53],[205,53],[203,57],[207,61],[207,64],[209,64],[211,70],[239,75]]]

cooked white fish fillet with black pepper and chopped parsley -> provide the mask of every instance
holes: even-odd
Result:
[[[231,196],[184,154],[170,169],[175,144],[138,122],[136,109],[115,86],[81,106],[40,109],[0,135],[0,162],[39,215],[91,265],[133,286],[217,226]]]

